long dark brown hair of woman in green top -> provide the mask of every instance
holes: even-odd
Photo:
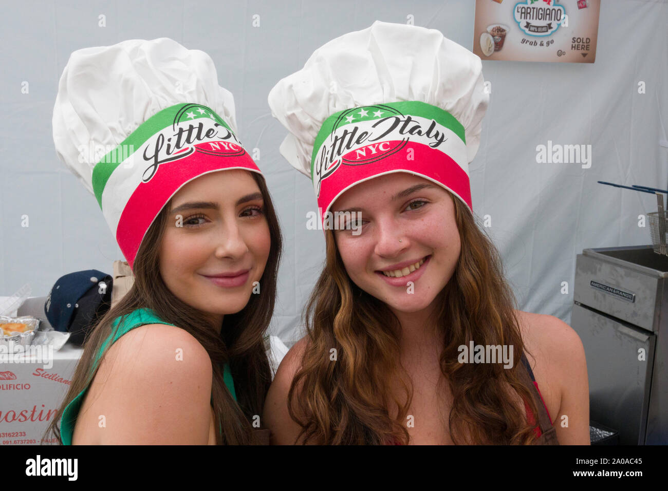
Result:
[[[269,222],[271,249],[261,277],[261,294],[251,295],[246,307],[235,314],[226,314],[220,335],[211,326],[210,318],[202,311],[184,303],[165,285],[160,275],[160,243],[164,234],[171,200],[162,208],[146,232],[133,265],[134,283],[99,321],[83,343],[83,354],[77,363],[65,400],[55,413],[44,438],[51,434],[62,444],[59,422],[67,404],[88,386],[95,377],[100,363],[94,358],[102,343],[112,334],[112,323],[136,309],[152,309],[160,319],[174,324],[199,341],[208,353],[212,368],[212,407],[214,410],[217,444],[257,443],[253,432],[253,416],[261,415],[265,395],[271,384],[271,371],[266,349],[265,332],[274,309],[276,281],[282,250],[281,230],[265,179],[256,172],[251,175],[257,182],[263,198],[264,213]],[[124,320],[124,319],[123,319]],[[109,349],[111,345],[108,345]],[[106,353],[106,350],[105,350]],[[224,363],[229,363],[237,402],[234,401],[223,379]]]

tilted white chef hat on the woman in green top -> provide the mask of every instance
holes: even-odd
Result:
[[[236,138],[234,98],[218,86],[212,59],[167,37],[74,51],[58,85],[53,142],[131,268],[184,184],[225,169],[261,174]]]

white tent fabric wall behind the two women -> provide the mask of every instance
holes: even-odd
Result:
[[[257,164],[267,176],[285,240],[271,333],[292,345],[302,335],[300,316],[321,271],[324,239],[321,230],[306,228],[307,212],[317,210],[315,196],[309,180],[279,154],[285,130],[271,118],[267,94],[319,45],[376,19],[405,23],[413,15],[416,25],[472,48],[474,2],[416,4],[5,5],[0,295],[25,284],[32,296],[47,295],[61,275],[110,272],[112,261],[122,259],[94,197],[55,156],[51,114],[57,81],[74,49],[168,36],[211,55],[220,85],[234,94],[238,136],[246,148],[259,149]],[[474,213],[486,221],[502,255],[519,309],[568,323],[576,254],[651,242],[639,216],[656,209],[655,198],[597,180],[668,187],[667,21],[667,1],[605,0],[595,63],[483,61],[491,94],[480,150],[470,166]],[[25,82],[27,94],[21,90]],[[584,146],[587,158],[538,163],[540,145]]]

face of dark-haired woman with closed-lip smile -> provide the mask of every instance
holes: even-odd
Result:
[[[178,190],[160,245],[170,291],[216,322],[242,310],[269,257],[263,210],[260,188],[245,170],[204,174]]]

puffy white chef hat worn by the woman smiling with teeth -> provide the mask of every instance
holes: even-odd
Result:
[[[269,93],[289,130],[281,154],[311,178],[323,223],[343,192],[391,172],[472,210],[468,164],[488,103],[480,57],[436,29],[381,21],[319,47]]]

